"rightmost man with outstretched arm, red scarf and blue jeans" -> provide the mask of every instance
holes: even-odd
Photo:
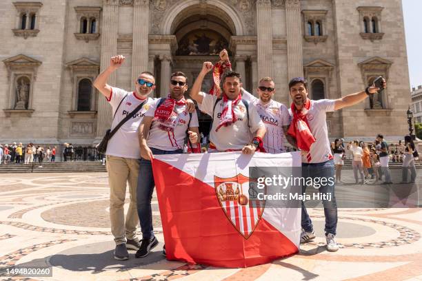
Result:
[[[385,80],[383,87],[386,86]],[[297,145],[302,150],[302,176],[304,178],[327,178],[327,184],[321,185],[320,194],[326,194],[331,200],[323,200],[325,214],[325,238],[327,250],[337,251],[338,244],[334,240],[337,227],[337,205],[334,196],[334,161],[331,154],[330,141],[325,112],[333,112],[344,107],[350,107],[365,100],[380,89],[367,87],[364,91],[349,94],[336,100],[323,99],[312,101],[308,98],[308,84],[303,78],[294,78],[289,83],[292,98],[292,123],[288,133],[297,139]],[[330,179],[330,180],[329,180]],[[306,191],[303,185],[302,192]],[[302,202],[302,233],[301,243],[315,238],[312,221]]]

